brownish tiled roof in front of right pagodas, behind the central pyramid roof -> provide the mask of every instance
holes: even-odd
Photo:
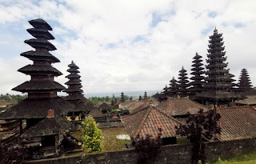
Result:
[[[188,112],[190,112],[190,114],[198,114],[200,109],[204,110],[204,112],[208,110],[206,106],[194,102],[189,98],[168,98],[156,107],[171,116],[185,115]]]

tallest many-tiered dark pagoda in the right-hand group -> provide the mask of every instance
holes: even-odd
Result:
[[[206,91],[200,94],[205,102],[215,105],[229,104],[232,100],[238,99],[238,94],[231,91],[232,83],[229,70],[226,69],[226,52],[222,40],[222,34],[218,34],[218,30],[215,29],[214,34],[210,36],[206,60]]]

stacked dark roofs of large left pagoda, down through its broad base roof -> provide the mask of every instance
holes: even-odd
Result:
[[[60,62],[50,54],[50,51],[56,50],[56,47],[49,42],[54,39],[49,32],[52,28],[41,18],[31,20],[29,23],[33,28],[28,29],[27,32],[34,38],[24,42],[34,50],[26,51],[21,56],[30,59],[33,64],[24,66],[18,71],[30,75],[30,80],[12,89],[27,93],[28,98],[0,116],[1,119],[19,119],[21,122],[26,120],[27,129],[47,118],[48,111],[54,113],[54,118],[62,118],[74,108],[73,104],[57,95],[57,92],[64,90],[65,87],[54,81],[54,77],[62,73],[52,66],[53,63]]]

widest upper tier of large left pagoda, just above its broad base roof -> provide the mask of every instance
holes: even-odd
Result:
[[[20,91],[20,92],[30,92],[30,91],[38,91],[45,92],[50,90],[64,90],[65,87],[59,84],[58,82],[41,80],[41,81],[30,81],[24,82],[19,86],[16,86],[12,90]]]

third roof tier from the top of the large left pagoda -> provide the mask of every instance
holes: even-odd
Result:
[[[33,48],[46,48],[47,50],[57,50],[56,47],[43,38],[30,38],[25,40],[26,44],[32,46]]]

